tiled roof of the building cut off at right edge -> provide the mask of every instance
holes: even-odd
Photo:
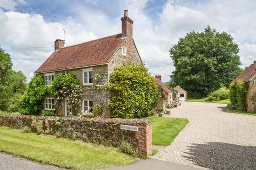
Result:
[[[238,81],[251,81],[253,77],[256,76],[256,63],[251,64],[248,68],[244,70],[237,78],[235,78],[234,82]]]

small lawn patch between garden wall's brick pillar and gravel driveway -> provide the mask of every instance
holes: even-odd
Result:
[[[153,145],[168,146],[188,123],[187,119],[169,117],[146,117],[151,121]]]

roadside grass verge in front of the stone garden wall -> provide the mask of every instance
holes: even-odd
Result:
[[[22,133],[0,127],[0,152],[69,169],[99,169],[132,164],[132,157],[117,148],[50,135]]]

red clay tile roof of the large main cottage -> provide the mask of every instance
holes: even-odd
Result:
[[[124,42],[125,39],[121,36],[122,34],[116,34],[60,48],[53,52],[35,73],[107,63]]]

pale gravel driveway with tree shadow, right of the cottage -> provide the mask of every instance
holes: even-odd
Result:
[[[183,102],[169,117],[190,123],[154,158],[211,169],[256,169],[256,116],[226,104]]]

